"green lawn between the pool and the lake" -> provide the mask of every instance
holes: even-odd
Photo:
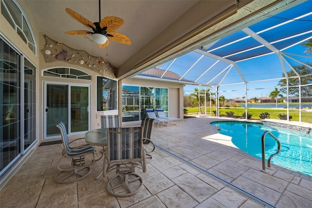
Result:
[[[187,113],[198,113],[198,108],[186,108],[188,111]],[[215,110],[214,107],[212,107],[212,115],[215,115],[213,111]],[[242,117],[242,114],[245,112],[245,108],[221,108],[220,109],[220,116],[225,117],[225,112],[232,111],[234,112],[234,116],[236,117]],[[255,108],[248,108],[248,113],[252,114],[252,119],[255,120],[261,120],[259,115],[263,112],[270,113],[270,119],[279,119],[279,114],[287,114],[286,109],[255,109]],[[210,114],[210,108],[207,108],[207,114]],[[299,111],[298,110],[289,110],[289,115],[292,116],[291,121],[299,121]],[[312,123],[312,111],[302,111],[301,114],[301,121],[306,123]]]

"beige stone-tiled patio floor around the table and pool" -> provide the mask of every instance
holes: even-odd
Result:
[[[101,161],[87,178],[56,184],[62,147],[39,146],[0,191],[0,207],[312,207],[312,177],[276,166],[269,173],[259,171],[261,161],[218,134],[209,125],[213,120],[190,118],[153,128],[158,147],[142,173],[144,187],[125,198],[107,193],[107,178],[96,180]]]

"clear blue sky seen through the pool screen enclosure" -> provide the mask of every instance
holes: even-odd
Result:
[[[299,20],[293,20],[307,13],[307,16],[301,17]],[[257,33],[258,37],[269,42],[278,52],[272,53],[270,48],[256,41],[258,37],[250,37],[248,35],[250,31]],[[267,97],[275,87],[279,87],[278,81],[283,74],[282,64],[285,70],[289,71],[291,70],[289,65],[301,65],[300,62],[312,63],[312,54],[306,54],[307,47],[302,45],[303,42],[311,38],[312,0],[309,0],[290,10],[250,25],[245,32],[242,30],[237,31],[218,41],[207,44],[201,49],[197,49],[196,52],[182,55],[176,61],[171,60],[160,68],[175,72],[186,80],[195,81],[197,79],[196,83],[211,83],[213,85],[221,83],[219,87],[220,95],[225,96],[226,99],[244,97],[245,84],[232,84],[243,82],[236,67],[232,66],[231,68],[231,64],[228,62],[217,61],[207,56],[202,57],[202,54],[209,52],[226,58],[232,63],[235,62],[244,79],[248,82],[248,99]],[[271,54],[269,54],[270,52]],[[282,52],[280,56],[278,55],[279,52]],[[254,56],[256,58],[251,58]],[[187,72],[188,70],[189,72]],[[267,79],[276,80],[255,82]],[[195,88],[198,88],[198,86],[186,85],[184,93],[190,94],[191,92],[188,91],[194,91]],[[204,87],[201,86],[201,88]],[[212,92],[215,92],[215,90],[216,88],[213,87]]]

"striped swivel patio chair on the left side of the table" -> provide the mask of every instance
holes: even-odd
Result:
[[[59,159],[58,163],[59,172],[55,175],[54,181],[59,184],[66,184],[87,177],[91,172],[91,165],[94,163],[96,152],[95,147],[91,145],[76,147],[70,146],[71,143],[84,138],[79,138],[69,143],[65,124],[63,122],[60,122],[58,125],[56,125],[56,127],[59,128],[64,149],[62,151],[62,157]],[[91,162],[86,163],[86,156],[89,154],[92,154],[93,158],[89,157]],[[65,158],[71,160],[70,165],[64,163]]]

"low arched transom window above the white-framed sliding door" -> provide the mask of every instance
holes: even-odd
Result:
[[[91,80],[91,75],[73,68],[52,68],[43,71],[42,76],[70,78],[77,80]]]

